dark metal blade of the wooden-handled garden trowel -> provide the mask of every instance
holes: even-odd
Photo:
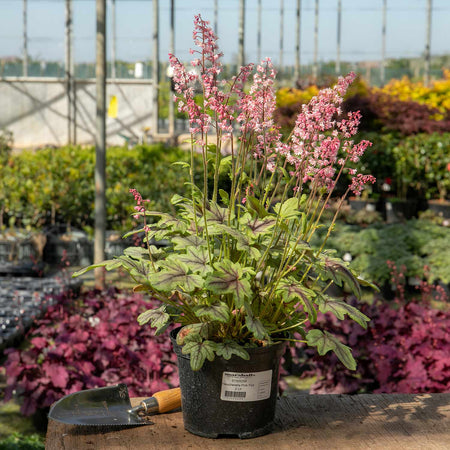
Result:
[[[130,413],[126,384],[74,392],[58,400],[48,417],[69,425],[150,425],[152,422]]]

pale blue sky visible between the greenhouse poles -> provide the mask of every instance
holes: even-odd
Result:
[[[262,57],[279,61],[280,3],[262,0]],[[380,60],[383,0],[341,0],[341,60]],[[386,57],[418,57],[425,49],[427,0],[386,0]],[[318,58],[336,55],[338,0],[319,2]],[[257,0],[246,0],[246,62],[257,58]],[[295,61],[297,0],[284,0],[285,64]],[[311,63],[314,52],[315,0],[302,0],[301,63]],[[111,0],[107,0],[107,33],[111,37]],[[175,0],[175,53],[190,60],[193,17],[201,13],[214,22],[214,0]],[[160,59],[169,51],[169,0],[159,0]],[[238,51],[239,0],[219,0],[218,35],[224,60],[235,62]],[[116,0],[117,59],[129,62],[152,58],[152,0]],[[0,0],[0,58],[21,56],[23,0]],[[28,53],[36,59],[64,62],[65,0],[28,0]],[[450,0],[433,0],[431,54],[450,53]],[[75,62],[95,60],[95,0],[73,0]],[[108,57],[111,56],[108,42]]]

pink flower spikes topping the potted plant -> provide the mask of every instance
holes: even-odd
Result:
[[[267,58],[257,66],[248,93],[244,84],[253,70],[251,64],[241,67],[239,74],[229,82],[219,82],[222,53],[217,37],[200,15],[195,17],[194,25],[194,42],[199,50],[191,53],[199,54],[199,58],[192,65],[198,72],[187,72],[173,55],[170,55],[170,63],[174,69],[175,90],[181,94],[176,99],[178,109],[188,114],[197,143],[205,145],[205,135],[211,127],[216,128],[220,139],[229,139],[236,124],[241,132],[241,143],[251,147],[250,154],[254,158],[264,161],[266,170],[276,171],[280,162],[292,168],[290,173],[297,180],[297,190],[309,182],[326,187],[330,192],[344,170],[356,177],[356,169],[345,166],[347,162],[357,163],[371,143],[352,140],[361,119],[359,111],[345,117],[342,114],[344,95],[356,77],[353,72],[340,77],[333,88],[321,90],[303,105],[290,139],[282,142],[279,127],[273,120],[276,73],[271,60]],[[202,104],[194,100],[197,82],[203,91]],[[374,179],[358,176],[349,189],[360,192],[363,182],[374,182]]]

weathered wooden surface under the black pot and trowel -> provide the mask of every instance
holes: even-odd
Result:
[[[450,449],[450,393],[289,395],[278,402],[273,433],[250,440],[194,436],[184,430],[181,412],[152,420],[153,425],[140,427],[50,420],[46,449]]]

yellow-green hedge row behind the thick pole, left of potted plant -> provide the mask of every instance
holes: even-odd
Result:
[[[187,193],[186,169],[173,165],[188,159],[180,149],[162,145],[109,148],[106,156],[107,226],[130,226],[134,188],[155,209],[171,210],[174,193]],[[7,155],[0,165],[0,226],[42,228],[94,223],[94,148],[63,147]]]

